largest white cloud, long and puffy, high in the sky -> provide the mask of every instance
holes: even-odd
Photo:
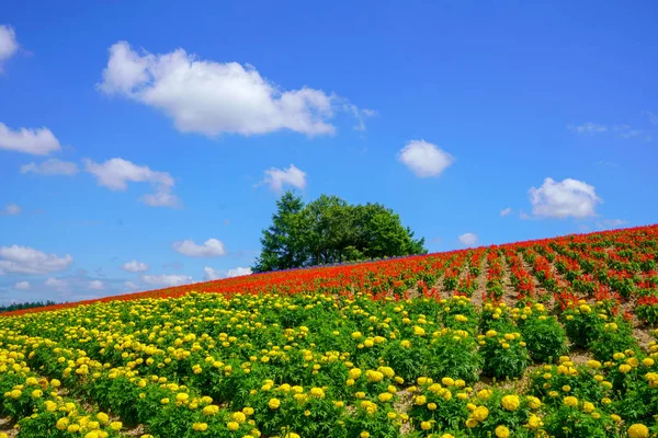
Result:
[[[183,132],[248,136],[290,129],[326,135],[336,131],[329,120],[337,111],[354,112],[344,99],[321,90],[282,90],[250,65],[203,60],[182,48],[138,53],[127,42],[109,51],[99,90],[161,111]],[[356,114],[361,126],[371,112],[356,108]]]

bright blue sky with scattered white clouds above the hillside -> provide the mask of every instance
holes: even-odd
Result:
[[[5,5],[0,303],[243,273],[280,188],[431,251],[656,222],[655,2],[435,3]]]

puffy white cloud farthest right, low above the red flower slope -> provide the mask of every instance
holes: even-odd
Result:
[[[536,217],[586,218],[595,216],[597,204],[601,203],[594,186],[572,178],[558,183],[547,177],[540,188],[531,187],[529,193]]]

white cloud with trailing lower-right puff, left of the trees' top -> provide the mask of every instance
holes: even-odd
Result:
[[[180,199],[171,193],[174,181],[167,172],[152,171],[122,158],[113,158],[102,164],[84,159],[84,169],[97,177],[99,185],[111,191],[125,191],[128,183],[150,183],[156,193],[144,195],[140,200],[151,207],[178,207]]]

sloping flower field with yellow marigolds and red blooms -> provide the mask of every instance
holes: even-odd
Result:
[[[0,318],[0,437],[658,436],[658,226]]]

